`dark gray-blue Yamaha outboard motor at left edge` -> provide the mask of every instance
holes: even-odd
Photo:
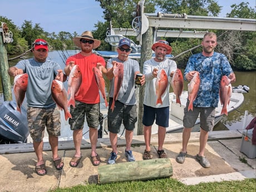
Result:
[[[21,113],[16,110],[15,101],[4,101],[0,105],[0,143],[27,142],[29,135],[27,110],[21,106]]]

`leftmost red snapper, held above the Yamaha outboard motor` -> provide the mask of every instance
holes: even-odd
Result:
[[[16,75],[14,77],[13,93],[17,103],[17,111],[21,113],[21,105],[24,101],[25,94],[28,85],[28,75],[27,73]]]

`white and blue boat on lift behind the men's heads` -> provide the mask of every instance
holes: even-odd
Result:
[[[122,35],[107,35],[107,37],[105,38],[105,42],[110,43],[111,46],[117,47],[119,44],[119,41],[122,38],[127,38],[125,36]],[[141,46],[140,45],[136,45],[136,43],[132,40],[131,41],[131,53],[129,54],[129,58],[135,59],[135,60],[140,60],[140,55],[141,55]],[[110,58],[115,58],[118,56],[117,51],[93,51],[96,55],[99,55],[103,58],[105,58],[105,60],[109,60]],[[155,57],[155,53],[152,52],[152,57]],[[169,54],[166,55],[166,58],[171,58],[173,57],[173,55]]]

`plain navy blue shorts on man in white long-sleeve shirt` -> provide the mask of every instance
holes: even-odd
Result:
[[[169,127],[169,109],[170,107],[155,108],[144,105],[142,124],[145,126],[151,126],[156,120],[156,125]]]

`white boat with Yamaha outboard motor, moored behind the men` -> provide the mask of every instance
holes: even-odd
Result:
[[[238,88],[240,88],[238,86]],[[243,104],[244,95],[243,92],[239,92],[233,88],[233,93],[230,98],[230,103],[228,105],[228,113],[233,110],[238,109],[240,105]],[[188,98],[188,91],[183,91],[180,96],[180,104],[176,104],[176,96],[173,92],[169,93],[170,98],[170,117],[169,117],[169,127],[166,128],[166,132],[182,132],[183,131],[183,116],[184,116],[184,107]],[[14,98],[14,97],[13,97]],[[223,115],[220,115],[222,106],[219,102],[218,107],[215,109],[215,124],[221,120]],[[32,142],[32,139],[29,135],[27,128],[27,113],[26,113],[26,98],[22,105],[22,114],[16,110],[15,101],[4,101],[0,105],[1,115],[0,115],[0,139],[4,143],[22,143],[22,142]],[[100,125],[98,132],[100,137],[109,137],[107,130],[107,107],[105,106],[105,101],[101,97],[100,102]],[[18,125],[18,126],[17,126]],[[121,130],[124,130],[124,126],[121,126]],[[158,127],[156,124],[152,126],[152,134],[157,134]],[[193,127],[193,132],[200,130],[200,119],[196,120],[195,126]],[[121,131],[119,136],[122,136],[123,132]],[[136,129],[134,131],[136,135]],[[83,128],[83,140],[88,139],[88,126],[85,121]],[[68,141],[73,140],[73,131],[70,130],[70,125],[68,121],[65,120],[64,112],[61,111],[61,136],[59,141]],[[48,141],[47,131],[45,132],[45,137],[43,141]],[[2,143],[3,144],[3,143]]]

